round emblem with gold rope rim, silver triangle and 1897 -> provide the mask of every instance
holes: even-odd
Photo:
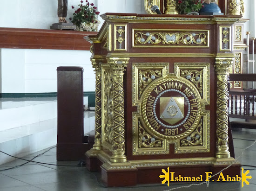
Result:
[[[142,123],[160,139],[182,138],[200,121],[200,94],[187,79],[158,78],[145,89],[141,98]]]

